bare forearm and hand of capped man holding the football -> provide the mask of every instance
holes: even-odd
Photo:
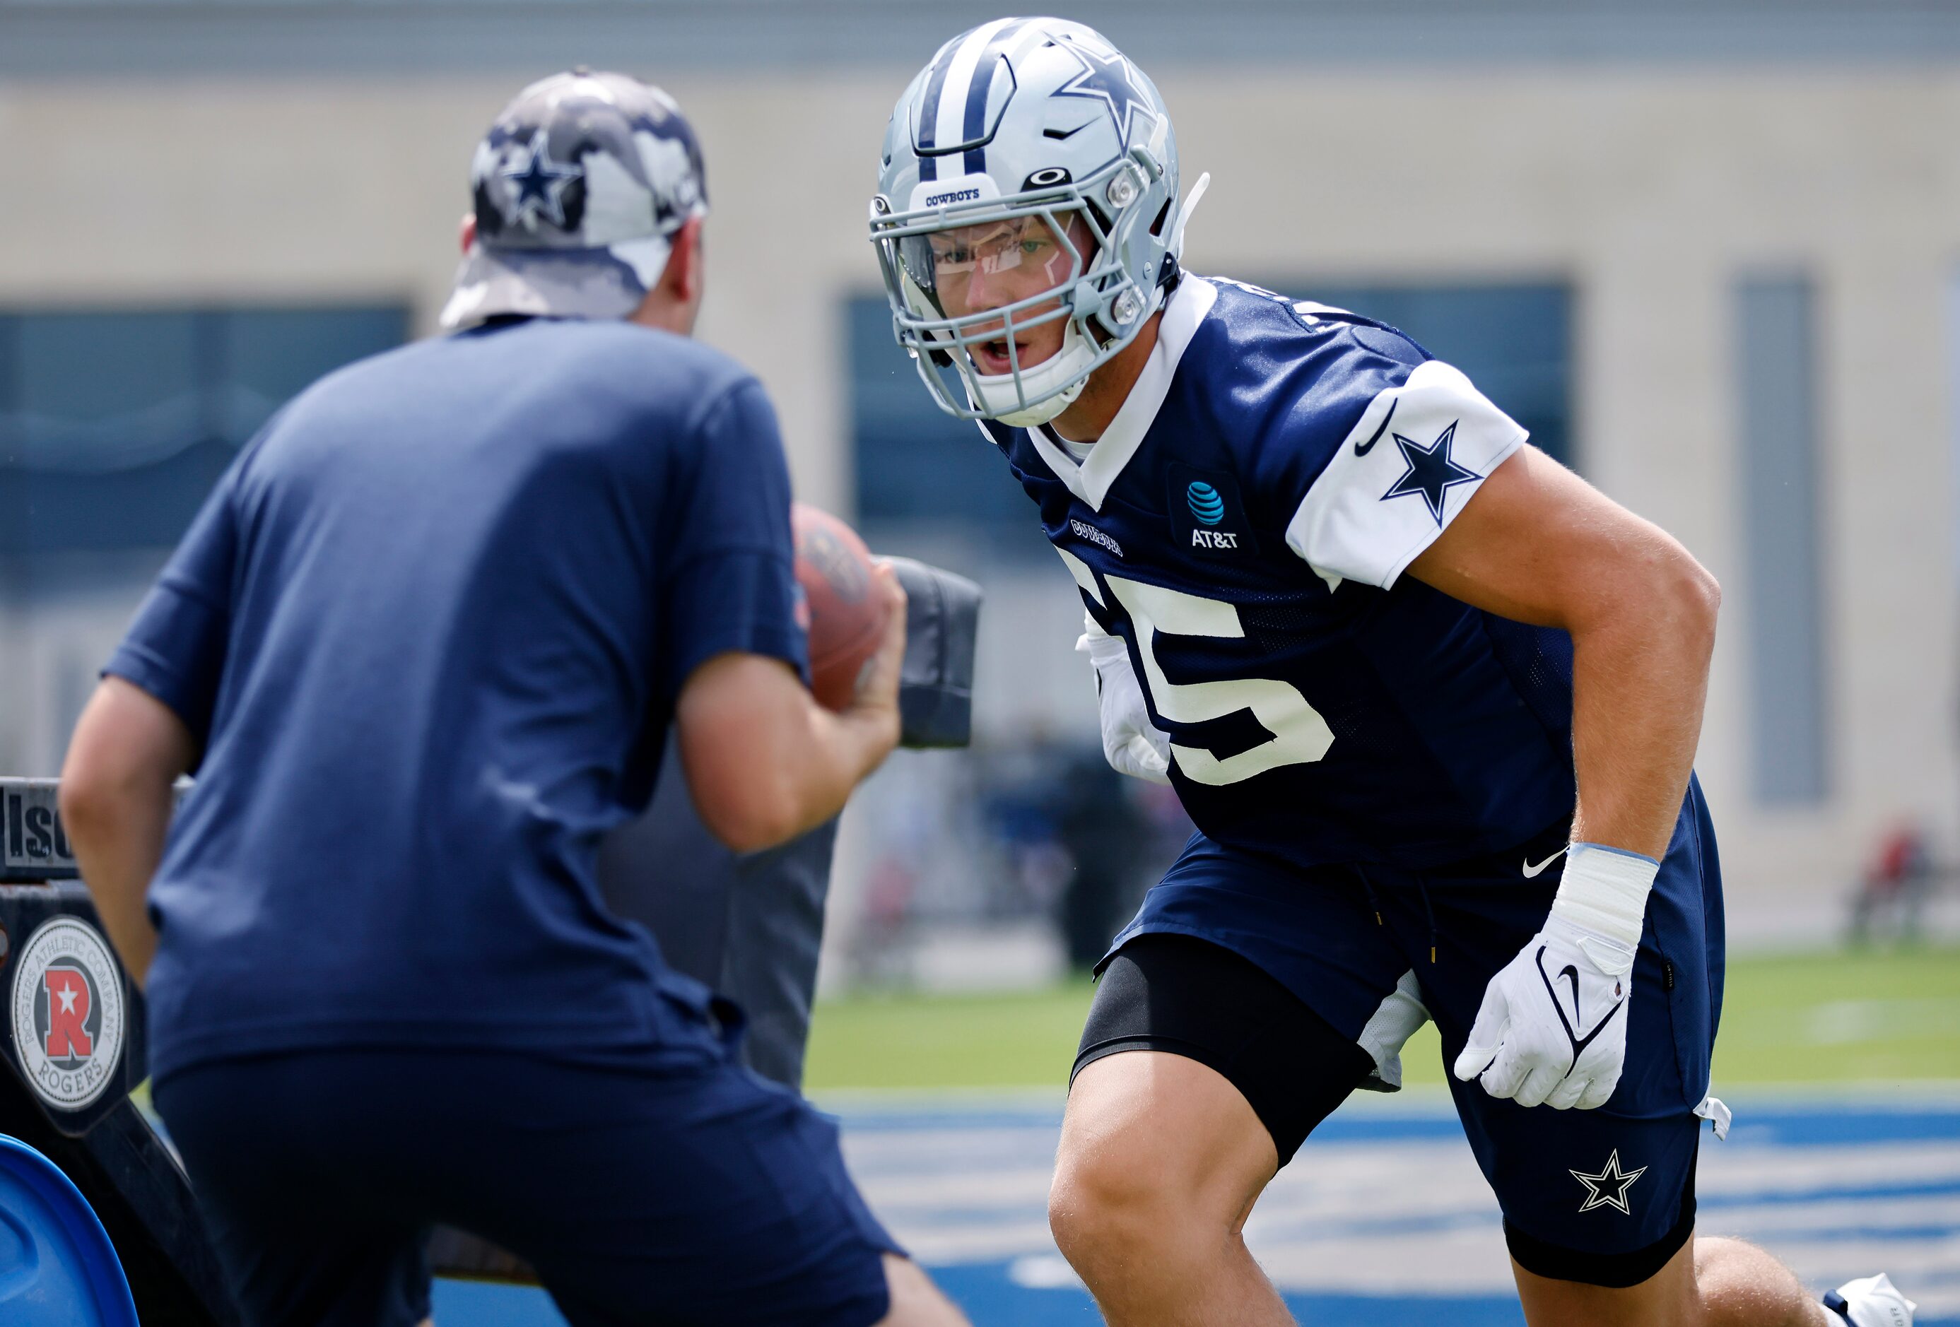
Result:
[[[702,823],[737,853],[774,847],[837,815],[898,745],[906,592],[890,566],[876,576],[892,612],[839,713],[819,706],[786,663],[760,655],[717,655],[682,688],[676,727],[688,792]]]

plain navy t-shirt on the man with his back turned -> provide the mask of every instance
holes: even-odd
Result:
[[[776,419],[708,347],[519,321],[304,392],[106,668],[204,745],[149,894],[153,1072],[700,1041],[598,843],[700,663],[804,666],[794,610]]]

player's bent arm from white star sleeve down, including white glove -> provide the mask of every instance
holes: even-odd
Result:
[[[1409,572],[1572,637],[1572,849],[1544,927],[1490,980],[1456,1076],[1521,1106],[1603,1106],[1627,1058],[1646,896],[1701,733],[1721,590],[1662,529],[1531,447],[1492,470]],[[1570,974],[1570,1017],[1548,974]]]

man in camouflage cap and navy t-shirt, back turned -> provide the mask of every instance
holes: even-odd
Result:
[[[253,439],[76,727],[63,813],[157,1109],[251,1323],[423,1319],[437,1221],[580,1327],[956,1323],[594,880],[670,723],[729,847],[835,815],[898,739],[904,596],[880,572],[876,664],[819,710],[774,416],[686,339],[672,100],[547,78],[470,174],[459,333]]]

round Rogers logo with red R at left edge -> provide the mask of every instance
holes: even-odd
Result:
[[[125,1019],[122,968],[80,917],[43,921],[22,945],[8,1015],[27,1082],[49,1106],[92,1106],[116,1078]]]

